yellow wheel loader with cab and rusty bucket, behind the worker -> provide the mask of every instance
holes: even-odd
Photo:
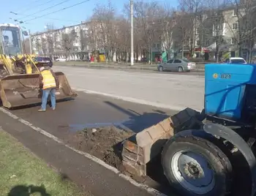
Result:
[[[0,24],[0,97],[5,108],[17,108],[41,102],[39,70],[32,55],[23,53],[22,31],[13,24]],[[77,97],[63,72],[56,99]]]

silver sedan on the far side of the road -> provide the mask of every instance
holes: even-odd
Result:
[[[194,62],[190,62],[187,59],[170,59],[167,62],[163,62],[157,66],[159,72],[163,71],[178,71],[178,72],[189,72],[195,69],[196,65]]]

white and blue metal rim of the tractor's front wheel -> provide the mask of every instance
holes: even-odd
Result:
[[[176,180],[189,192],[203,195],[214,189],[214,170],[205,157],[192,151],[178,151],[171,159]]]

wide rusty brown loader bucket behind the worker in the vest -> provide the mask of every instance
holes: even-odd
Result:
[[[55,72],[59,78],[56,100],[77,97],[63,72]],[[39,74],[8,75],[0,80],[1,102],[5,108],[16,108],[41,102]]]

